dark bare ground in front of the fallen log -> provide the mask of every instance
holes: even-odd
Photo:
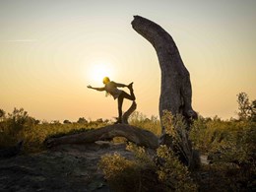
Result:
[[[62,145],[35,155],[0,160],[0,191],[109,191],[97,162],[125,144]]]

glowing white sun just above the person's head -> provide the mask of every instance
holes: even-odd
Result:
[[[94,64],[90,70],[91,80],[94,82],[102,82],[104,77],[113,75],[111,65],[109,64]]]

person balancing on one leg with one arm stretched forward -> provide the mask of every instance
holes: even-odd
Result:
[[[122,105],[123,105],[123,99],[129,99],[129,100],[135,100],[136,97],[134,95],[133,91],[133,82],[129,85],[124,85],[124,84],[119,84],[115,83],[113,81],[110,81],[108,77],[104,77],[102,83],[105,85],[102,88],[93,88],[92,86],[88,86],[89,89],[96,90],[98,92],[106,92],[107,95],[113,96],[114,99],[117,98],[117,103],[118,103],[118,118],[115,124],[117,123],[122,123]],[[128,88],[130,90],[130,95],[127,94],[126,92],[119,90],[117,88]]]

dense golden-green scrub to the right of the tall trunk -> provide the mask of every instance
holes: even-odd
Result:
[[[237,95],[238,119],[196,120],[190,132],[193,146],[208,156],[205,166],[221,177],[231,191],[253,191],[256,187],[256,100],[245,93]]]

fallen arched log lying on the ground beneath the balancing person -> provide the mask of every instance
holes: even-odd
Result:
[[[50,138],[46,141],[46,146],[51,148],[62,144],[89,144],[109,141],[114,137],[125,137],[128,141],[151,149],[159,147],[159,138],[154,133],[126,124],[109,125],[84,133]]]

